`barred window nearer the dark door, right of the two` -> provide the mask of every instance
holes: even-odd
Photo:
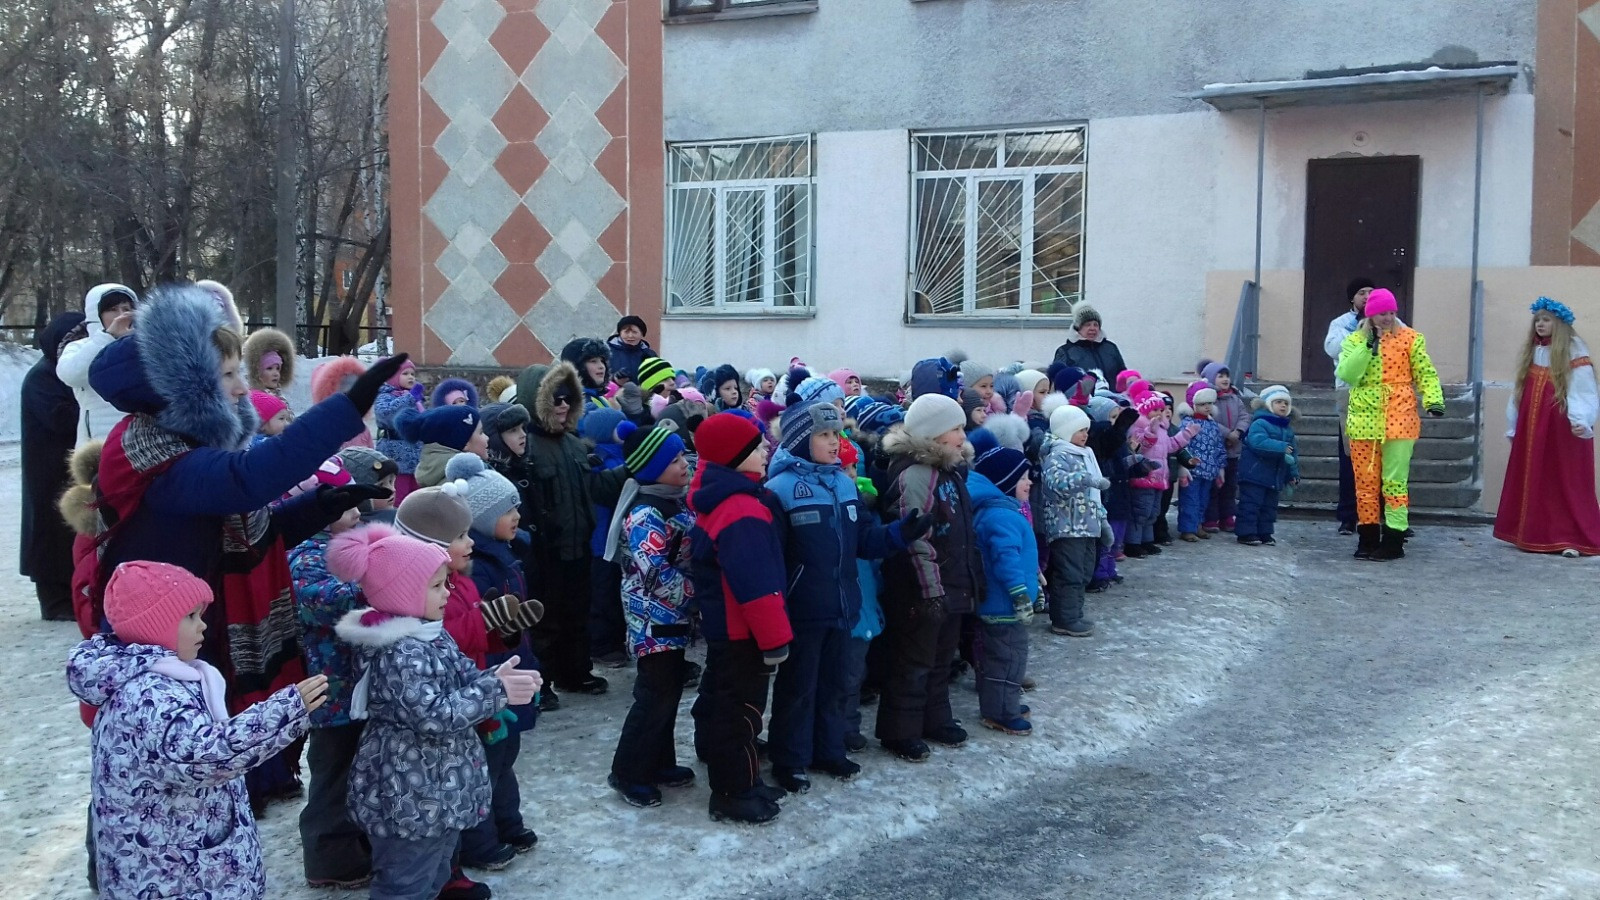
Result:
[[[1083,293],[1085,128],[912,136],[912,315],[1066,315]]]

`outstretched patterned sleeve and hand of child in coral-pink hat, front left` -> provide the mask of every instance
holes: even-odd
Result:
[[[322,679],[326,689],[326,679]],[[320,700],[314,700],[320,703]],[[178,681],[157,682],[152,703],[141,708],[142,727],[173,785],[226,785],[272,759],[310,729],[310,716],[298,687],[285,687],[261,703],[218,722],[195,706]]]

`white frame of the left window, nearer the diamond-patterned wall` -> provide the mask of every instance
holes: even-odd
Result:
[[[738,147],[749,144],[782,144],[803,141],[806,144],[806,160],[810,175],[784,178],[731,178],[707,181],[672,181],[672,154],[677,149],[693,147]],[[774,266],[774,245],[778,242],[778,192],[782,187],[806,189],[805,215],[805,291],[800,303],[779,306],[776,303],[778,274]],[[712,298],[709,304],[674,306],[674,242],[677,240],[677,202],[680,194],[690,191],[710,191],[712,207]],[[758,191],[762,194],[762,299],[760,301],[728,301],[728,195]],[[816,312],[816,136],[814,135],[782,135],[774,138],[742,138],[733,141],[683,141],[667,144],[667,208],[666,208],[666,272],[662,291],[664,315],[813,315]]]

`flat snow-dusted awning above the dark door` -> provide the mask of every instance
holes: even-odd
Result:
[[[1344,102],[1381,102],[1390,99],[1424,99],[1450,94],[1502,94],[1510,90],[1522,67],[1498,62],[1474,69],[1427,69],[1362,72],[1294,78],[1288,82],[1240,82],[1206,85],[1189,94],[1222,112],[1235,109],[1267,109],[1288,106],[1333,106]]]

